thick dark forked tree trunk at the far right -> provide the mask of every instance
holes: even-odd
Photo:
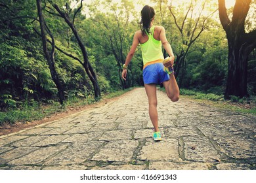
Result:
[[[228,78],[224,97],[244,97],[247,93],[248,56],[256,48],[256,29],[245,32],[245,18],[251,0],[236,0],[232,20],[224,0],[219,0],[219,18],[228,39]]]

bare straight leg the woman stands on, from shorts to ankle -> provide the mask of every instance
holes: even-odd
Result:
[[[150,120],[154,126],[154,131],[159,131],[158,129],[158,99],[156,96],[156,84],[144,84],[146,95],[148,95],[148,112],[150,115]]]

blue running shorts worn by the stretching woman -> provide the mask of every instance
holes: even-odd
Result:
[[[161,84],[169,80],[169,75],[163,71],[163,63],[154,63],[143,69],[144,84]]]

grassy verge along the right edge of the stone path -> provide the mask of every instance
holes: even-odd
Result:
[[[165,91],[164,88],[160,89]],[[217,95],[215,93],[203,93],[194,90],[181,89],[181,97],[212,105],[217,108],[232,110],[234,112],[242,112],[246,114],[256,115],[256,97],[242,98],[231,96],[230,100],[225,100],[224,95]]]

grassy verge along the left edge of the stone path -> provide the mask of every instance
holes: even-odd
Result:
[[[52,116],[58,112],[64,112],[70,110],[70,108],[79,108],[86,105],[99,103],[104,99],[111,99],[123,93],[129,92],[133,88],[127,90],[119,90],[105,94],[101,99],[95,100],[93,95],[89,95],[86,98],[70,97],[63,105],[56,101],[52,101],[51,104],[42,105],[41,103],[33,102],[30,105],[23,105],[20,108],[12,108],[5,112],[0,112],[0,125],[15,124],[16,122],[27,123],[34,120],[42,120],[43,118]]]

